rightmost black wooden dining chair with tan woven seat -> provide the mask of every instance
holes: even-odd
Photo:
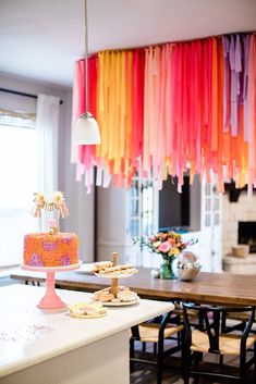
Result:
[[[198,326],[190,324],[188,311],[198,313]],[[255,308],[248,307],[219,307],[207,305],[183,304],[184,311],[184,357],[183,357],[183,379],[184,384],[190,383],[191,375],[195,376],[198,383],[199,375],[210,375],[225,379],[237,379],[240,383],[246,383],[246,372],[254,364],[256,382],[256,336],[251,333],[255,318]],[[245,326],[236,333],[221,333],[222,317],[227,313],[247,313]],[[247,352],[253,348],[253,357],[247,358]],[[224,366],[220,364],[218,372],[203,370],[204,355],[215,354],[221,357],[225,355],[237,356],[240,367],[237,375],[228,374]]]

